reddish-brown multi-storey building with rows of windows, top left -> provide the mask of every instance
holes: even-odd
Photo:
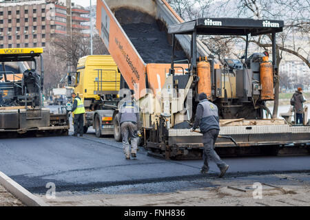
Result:
[[[68,34],[67,27],[70,32],[90,28],[84,24],[89,10],[72,4],[67,16],[67,9],[66,1],[0,0],[0,48],[45,47],[56,34]]]

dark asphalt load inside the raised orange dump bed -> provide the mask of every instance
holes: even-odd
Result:
[[[115,16],[145,63],[171,63],[172,36],[167,34],[161,21],[147,13],[125,8],[117,10]],[[185,59],[185,52],[176,50],[174,61]]]

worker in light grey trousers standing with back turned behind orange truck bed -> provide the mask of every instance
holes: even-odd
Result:
[[[139,107],[132,98],[125,98],[125,102],[121,104],[119,109],[119,122],[121,124],[121,134],[123,137],[123,151],[125,159],[130,159],[130,144],[131,137],[131,155],[136,158],[138,148],[138,135],[141,126]]]

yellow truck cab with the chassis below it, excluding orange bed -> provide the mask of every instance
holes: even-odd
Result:
[[[82,98],[85,106],[84,133],[90,126],[96,136],[113,135],[113,114],[117,108],[121,74],[110,55],[84,56],[75,73],[68,74],[68,84]]]

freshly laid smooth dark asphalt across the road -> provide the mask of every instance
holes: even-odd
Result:
[[[0,170],[34,193],[45,193],[53,182],[57,190],[90,191],[125,184],[158,183],[200,178],[202,160],[167,161],[147,156],[125,160],[121,143],[112,137],[29,137],[2,139]],[[310,170],[310,155],[299,157],[225,158],[227,177]],[[211,164],[210,174],[218,175]]]

